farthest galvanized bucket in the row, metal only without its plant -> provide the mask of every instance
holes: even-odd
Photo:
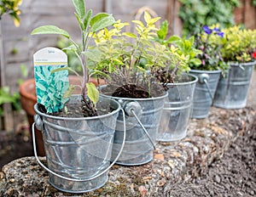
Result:
[[[240,109],[247,104],[247,93],[256,62],[231,63],[226,77],[221,77],[213,99],[213,106]]]

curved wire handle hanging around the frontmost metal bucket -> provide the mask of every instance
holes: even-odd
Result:
[[[39,160],[38,158],[38,152],[37,152],[37,146],[36,146],[36,138],[35,138],[35,122],[32,125],[32,143],[33,143],[33,149],[34,149],[34,155],[36,160],[38,161],[38,164],[40,166],[42,166],[44,168],[44,170],[46,170],[47,172],[55,175],[56,177],[61,177],[67,181],[75,181],[75,182],[85,182],[85,181],[90,181],[95,179],[96,177],[100,177],[102,176],[102,174],[108,172],[108,170],[115,164],[115,162],[119,159],[119,156],[121,155],[124,146],[125,146],[125,138],[126,138],[126,127],[125,127],[125,111],[123,109],[122,110],[122,114],[123,114],[123,119],[124,119],[124,138],[123,138],[123,143],[121,146],[121,149],[119,150],[119,154],[116,156],[116,158],[113,160],[113,162],[108,166],[108,168],[106,168],[104,171],[102,171],[101,173],[98,173],[96,175],[94,175],[93,177],[89,177],[89,178],[72,178],[72,177],[64,177],[56,172],[51,171],[47,166],[44,166],[44,164]]]

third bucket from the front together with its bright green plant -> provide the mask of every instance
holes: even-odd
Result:
[[[188,74],[189,64],[201,64],[201,60],[195,56],[201,53],[194,48],[194,37],[189,39],[171,36],[166,37],[168,33],[167,20],[160,25],[155,40],[165,45],[167,48],[176,48],[177,53],[187,58],[186,65],[178,67],[177,74],[172,77],[172,81],[167,83],[168,100],[161,115],[160,128],[157,134],[157,140],[161,142],[178,141],[186,137],[189,118],[192,112],[195,84],[198,81],[197,76]],[[171,72],[172,75],[172,72]]]

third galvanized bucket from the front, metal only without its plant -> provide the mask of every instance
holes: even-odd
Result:
[[[168,101],[161,115],[157,141],[172,142],[186,137],[191,116],[197,76],[183,76],[183,81],[169,83]]]

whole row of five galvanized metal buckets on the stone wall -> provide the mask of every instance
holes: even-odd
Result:
[[[232,65],[226,78],[220,71],[191,70],[190,82],[169,84],[169,94],[159,98],[102,96],[101,104],[110,104],[113,112],[97,117],[45,115],[36,104],[35,123],[43,132],[48,166],[38,159],[33,140],[35,156],[56,189],[84,193],[101,188],[113,164],[137,166],[153,160],[156,141],[185,138],[189,118],[207,117],[212,104],[244,107],[253,65]]]

